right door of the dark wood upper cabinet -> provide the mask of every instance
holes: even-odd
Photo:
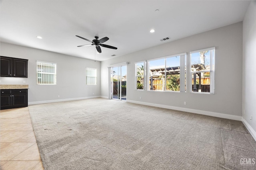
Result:
[[[28,60],[13,59],[12,62],[12,76],[28,77]]]

